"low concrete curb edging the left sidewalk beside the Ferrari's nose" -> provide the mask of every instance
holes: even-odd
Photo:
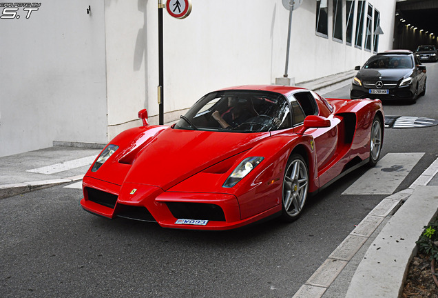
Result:
[[[0,199],[4,199],[7,197],[12,197],[14,195],[21,195],[26,192],[31,192],[33,190],[40,190],[43,188],[50,188],[52,186],[56,186],[62,183],[70,183],[74,181],[79,181],[83,179],[84,175],[67,177],[61,179],[50,179],[50,180],[41,180],[41,181],[30,181],[23,183],[14,183],[14,184],[3,184],[0,186]]]

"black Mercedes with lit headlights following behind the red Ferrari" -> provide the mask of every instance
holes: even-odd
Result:
[[[353,78],[351,99],[417,101],[426,94],[426,66],[409,50],[375,54]]]

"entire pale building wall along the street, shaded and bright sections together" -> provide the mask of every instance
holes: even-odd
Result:
[[[186,19],[164,12],[165,122],[211,90],[275,83],[284,74],[289,11],[281,0],[191,2]],[[332,3],[328,38],[315,34],[316,1],[293,12],[295,82],[351,70],[372,54],[333,41]],[[388,50],[395,0],[368,3],[381,14],[379,51]],[[157,1],[41,0],[30,19],[0,19],[0,29],[8,70],[0,73],[0,156],[52,141],[106,143],[140,125],[142,108],[158,123]]]

